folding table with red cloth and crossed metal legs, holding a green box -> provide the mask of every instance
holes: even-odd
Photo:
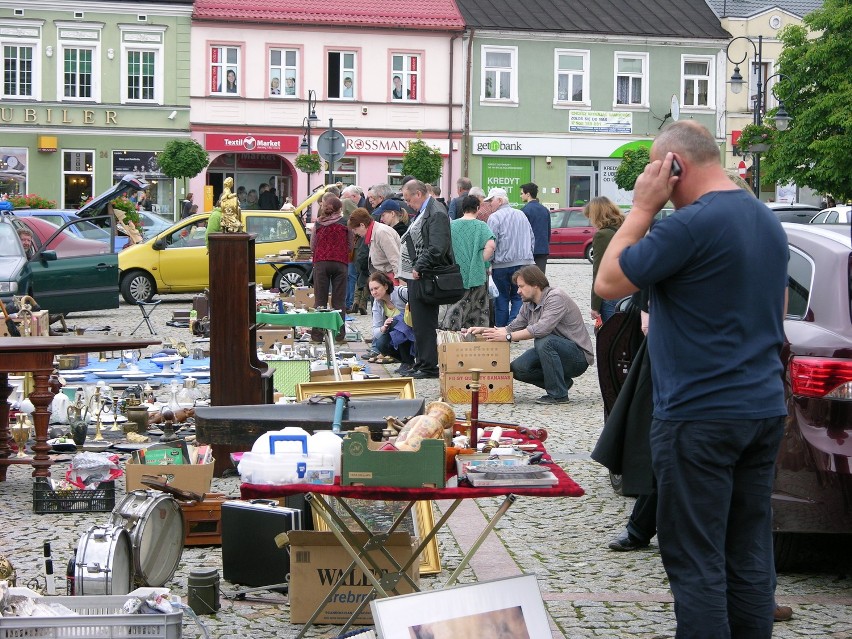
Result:
[[[549,470],[556,476],[559,480],[559,483],[555,486],[550,487],[529,487],[529,486],[501,486],[501,487],[487,487],[487,488],[474,488],[474,487],[447,487],[447,488],[392,488],[392,487],[364,487],[364,486],[341,486],[339,483],[335,483],[334,485],[315,485],[315,484],[290,484],[285,486],[266,486],[266,485],[257,485],[257,484],[242,484],[240,486],[240,494],[243,499],[272,499],[277,497],[285,497],[288,495],[293,495],[297,493],[307,493],[306,500],[311,504],[311,507],[317,512],[317,514],[325,521],[328,525],[329,530],[334,533],[335,537],[337,537],[340,544],[346,550],[350,557],[352,557],[352,563],[349,565],[349,569],[346,570],[340,579],[335,583],[331,592],[329,592],[325,601],[320,604],[319,608],[314,612],[312,617],[308,620],[308,623],[302,628],[302,630],[297,635],[297,639],[305,636],[305,633],[313,626],[314,620],[319,617],[320,613],[323,611],[325,606],[329,601],[332,600],[335,592],[337,592],[338,588],[344,583],[347,576],[350,572],[352,572],[356,566],[360,568],[366,578],[370,581],[370,584],[373,588],[371,594],[368,597],[365,597],[361,602],[359,607],[355,610],[352,616],[349,618],[349,621],[341,630],[341,633],[345,633],[347,629],[352,625],[352,622],[357,618],[357,616],[361,613],[369,602],[374,597],[389,597],[396,593],[396,585],[399,583],[401,579],[406,579],[409,581],[411,586],[415,590],[419,590],[416,584],[412,583],[410,578],[408,577],[406,570],[415,562],[419,561],[420,553],[426,548],[429,542],[434,538],[434,536],[438,533],[441,527],[447,523],[450,516],[453,512],[458,508],[463,499],[477,499],[480,497],[503,497],[503,503],[497,509],[497,512],[491,517],[488,525],[482,531],[482,533],[477,537],[476,541],[471,546],[470,550],[462,557],[461,562],[458,567],[453,571],[450,575],[447,583],[444,586],[453,585],[461,575],[461,572],[467,567],[468,563],[470,563],[473,556],[476,554],[479,547],[485,541],[488,534],[494,529],[503,515],[506,514],[506,511],[515,503],[518,497],[581,497],[584,492],[583,489],[572,480],[568,474],[562,470],[559,466],[550,462],[550,457],[546,454],[544,450],[544,446],[540,442],[538,443],[539,451],[544,452],[545,455],[543,457],[543,461],[547,463],[547,467]],[[388,453],[389,455],[393,455],[392,452]],[[455,475],[452,474],[452,477]],[[387,530],[370,530],[369,527],[364,523],[364,521],[357,515],[357,513],[349,507],[346,503],[346,498],[352,499],[365,499],[365,500],[384,500],[384,501],[403,501],[407,502],[405,508],[402,512],[396,517],[393,524],[391,524],[390,528]],[[420,544],[413,551],[411,558],[405,563],[405,565],[400,566],[394,561],[393,557],[390,556],[390,553],[387,552],[382,547],[382,542],[387,536],[394,532],[396,528],[402,523],[403,519],[407,516],[411,508],[417,501],[420,500],[452,500],[452,503],[447,508],[446,512],[441,516],[441,518],[435,523],[435,526],[429,531],[423,539],[420,540]],[[337,503],[346,513],[353,518],[358,526],[362,529],[363,532],[368,533],[368,538],[365,543],[361,544],[358,542],[356,537],[352,534],[349,528],[346,526],[345,522],[341,519],[340,515],[335,511],[332,507],[332,503]],[[360,531],[358,531],[360,532]],[[378,566],[373,562],[372,558],[369,556],[369,551],[378,550],[382,552],[382,554],[388,558],[391,563],[396,567],[396,570],[393,572],[388,572],[382,575],[382,571],[378,570]],[[370,564],[370,566],[368,566]],[[376,574],[382,575],[381,578],[376,578],[373,574],[373,570],[376,570]]]

